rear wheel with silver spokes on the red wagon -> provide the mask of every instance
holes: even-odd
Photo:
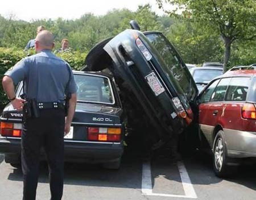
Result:
[[[213,170],[217,177],[228,177],[232,173],[231,166],[228,166],[227,152],[224,131],[220,130],[213,143]]]

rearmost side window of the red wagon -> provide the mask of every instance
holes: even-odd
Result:
[[[249,89],[249,77],[234,77],[230,81],[226,94],[226,101],[246,101],[247,91]]]

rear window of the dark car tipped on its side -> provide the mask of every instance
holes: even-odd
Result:
[[[174,47],[162,34],[146,34],[147,39],[154,45],[159,52],[161,58],[159,62],[164,62],[161,65],[164,74],[175,87],[178,95],[184,95],[187,99],[193,99],[196,96],[196,87],[192,86],[192,77],[185,66],[181,64],[179,55],[177,55]]]

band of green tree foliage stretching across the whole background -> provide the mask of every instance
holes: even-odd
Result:
[[[170,15],[158,16],[149,5],[143,5],[138,6],[134,12],[127,9],[114,9],[102,16],[86,13],[79,19],[73,20],[58,18],[56,20],[42,19],[25,22],[13,17],[3,18],[0,16],[0,47],[24,49],[27,41],[35,38],[36,27],[43,25],[55,35],[56,49],[60,48],[60,41],[67,38],[73,51],[86,53],[99,41],[113,37],[126,28],[130,28],[130,20],[135,19],[142,31],[164,32],[164,35],[175,44],[185,62],[192,64],[201,64],[204,61],[224,62],[222,55],[225,51],[225,45],[220,37],[220,26],[216,24],[216,17],[209,17],[207,9],[209,11],[214,10],[210,5],[211,2],[216,2],[217,5],[222,6],[220,10],[217,9],[218,12],[214,13],[216,15],[219,12],[222,14],[224,12],[222,10],[228,10],[228,3],[235,2],[230,9],[235,10],[233,15],[237,28],[233,34],[236,34],[238,39],[234,39],[232,42],[231,51],[233,53],[230,57],[230,65],[256,62],[253,56],[255,55],[255,38],[253,38],[253,34],[256,32],[255,26],[247,26],[246,23],[238,22],[237,19],[238,16],[239,19],[248,19],[251,16],[248,22],[246,21],[247,24],[255,23],[255,14],[252,14],[255,11],[251,9],[248,11],[247,9],[247,7],[254,6],[250,3],[253,2],[252,0],[175,0],[167,2],[183,7],[182,14],[177,15],[177,12],[172,11],[170,12],[171,17]],[[222,8],[225,5],[226,9]],[[236,14],[237,12],[240,14]],[[227,13],[231,15],[233,11]],[[224,15],[224,19],[228,20],[229,15]],[[228,22],[224,19],[223,22]],[[245,19],[242,22],[245,22]],[[249,28],[246,29],[246,27]],[[230,36],[228,32],[227,35]],[[246,41],[247,39],[253,40]]]

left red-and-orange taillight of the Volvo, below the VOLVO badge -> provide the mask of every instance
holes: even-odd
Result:
[[[1,122],[0,135],[6,137],[20,137],[22,134],[22,124]]]

